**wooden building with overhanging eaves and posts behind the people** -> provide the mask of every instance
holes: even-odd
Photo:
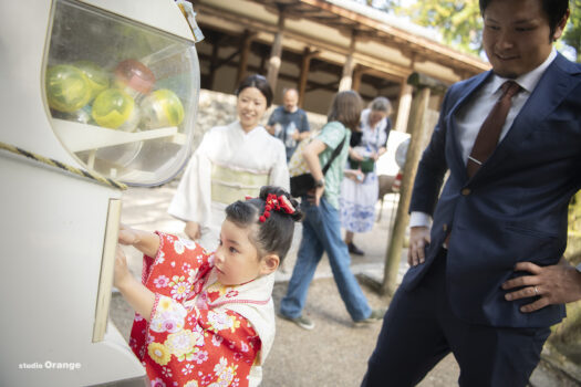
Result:
[[[206,36],[196,45],[203,88],[232,93],[245,75],[259,73],[273,86],[276,103],[282,88],[295,87],[301,107],[321,114],[334,93],[353,88],[366,102],[388,97],[396,129],[405,132],[409,74],[452,84],[489,69],[426,29],[349,0],[190,1]]]

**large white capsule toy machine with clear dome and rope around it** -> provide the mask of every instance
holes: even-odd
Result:
[[[148,384],[108,321],[122,190],[190,154],[194,15],[174,0],[0,2],[0,386]]]

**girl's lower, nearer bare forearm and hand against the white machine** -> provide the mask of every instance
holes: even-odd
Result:
[[[127,268],[127,259],[120,245],[117,245],[115,253],[114,285],[133,310],[149,321],[155,303],[155,294],[131,274]]]

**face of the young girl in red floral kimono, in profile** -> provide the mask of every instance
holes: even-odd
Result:
[[[220,244],[214,254],[218,281],[226,286],[239,285],[266,275],[279,265],[279,258],[269,254],[260,259],[250,241],[252,228],[240,228],[228,219],[220,231]]]

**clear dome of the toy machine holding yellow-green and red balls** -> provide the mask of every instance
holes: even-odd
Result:
[[[56,0],[44,59],[52,128],[85,168],[159,185],[186,163],[199,94],[194,41]]]

